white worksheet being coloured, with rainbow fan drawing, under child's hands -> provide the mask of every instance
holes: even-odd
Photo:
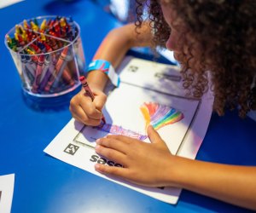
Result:
[[[71,119],[44,152],[154,199],[176,204],[179,188],[140,187],[96,172],[96,163],[122,165],[96,154],[95,141],[108,134],[119,134],[150,142],[146,134],[150,123],[172,154],[195,158],[211,118],[212,94],[207,92],[201,100],[186,97],[177,66],[127,57],[118,72],[119,88],[109,93],[103,109],[107,124],[90,127]]]

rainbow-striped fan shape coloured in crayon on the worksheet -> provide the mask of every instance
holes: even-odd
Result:
[[[154,130],[159,130],[163,126],[174,124],[184,118],[183,113],[175,108],[154,102],[144,103],[140,109],[146,122],[146,128],[148,124],[151,124]]]

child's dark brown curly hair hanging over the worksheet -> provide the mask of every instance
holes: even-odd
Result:
[[[154,44],[164,47],[172,30],[166,24],[159,0],[136,2],[136,26],[142,26],[143,11],[148,9]],[[184,88],[200,98],[208,89],[210,71],[215,95],[213,109],[219,115],[226,108],[238,107],[241,117],[256,110],[256,1],[170,0],[164,6],[172,7],[177,13],[174,22],[185,26],[177,44],[187,50],[175,55],[181,65]]]

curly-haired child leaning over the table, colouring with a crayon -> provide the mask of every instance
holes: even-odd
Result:
[[[136,11],[135,25],[109,32],[94,60],[118,66],[132,47],[166,47],[180,63],[183,87],[189,95],[200,98],[212,89],[213,109],[219,115],[238,108],[243,118],[256,110],[256,1],[137,0]],[[208,71],[212,88],[207,87]],[[95,100],[84,97],[82,90],[73,97],[70,111],[73,118],[96,126],[107,101],[102,91],[108,77],[95,70],[87,80]],[[96,153],[124,168],[96,164],[96,170],[143,186],[181,187],[256,210],[256,166],[213,164],[172,155],[150,125],[148,137],[149,144],[122,135],[98,139]]]

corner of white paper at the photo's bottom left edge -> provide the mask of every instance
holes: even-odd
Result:
[[[0,176],[0,212],[10,213],[15,187],[15,174]]]

